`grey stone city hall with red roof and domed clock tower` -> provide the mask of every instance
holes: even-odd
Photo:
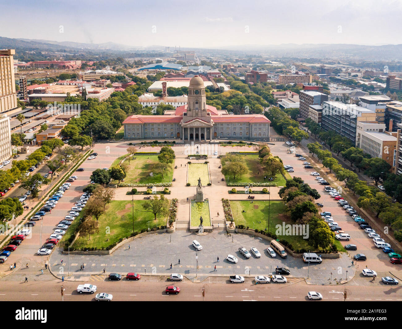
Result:
[[[183,142],[219,138],[269,141],[271,121],[261,114],[229,115],[206,104],[204,81],[190,80],[187,104],[164,115],[131,115],[124,120],[126,139],[172,139]]]

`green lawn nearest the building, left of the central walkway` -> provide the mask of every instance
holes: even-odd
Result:
[[[150,176],[152,166],[158,163],[158,155],[134,155],[134,157],[136,157],[135,160],[123,162],[128,166],[127,177],[124,179],[125,183],[167,183],[172,181],[173,165],[171,165],[172,170],[164,175],[164,178],[161,175]],[[112,181],[112,183],[116,184],[118,181]]]

